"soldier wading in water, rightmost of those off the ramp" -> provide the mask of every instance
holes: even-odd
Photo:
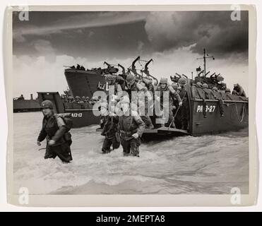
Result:
[[[123,115],[119,116],[119,129],[124,155],[139,157],[139,146],[145,123],[137,112],[131,110],[127,95],[121,98],[120,107]]]

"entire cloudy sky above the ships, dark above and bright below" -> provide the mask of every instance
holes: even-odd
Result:
[[[153,58],[157,78],[203,68],[203,47],[215,60],[207,71],[221,73],[227,86],[248,93],[248,13],[232,21],[231,11],[31,12],[13,13],[13,96],[67,87],[64,65],[102,67],[104,61],[129,67],[138,55]],[[139,68],[139,64],[138,64]]]

